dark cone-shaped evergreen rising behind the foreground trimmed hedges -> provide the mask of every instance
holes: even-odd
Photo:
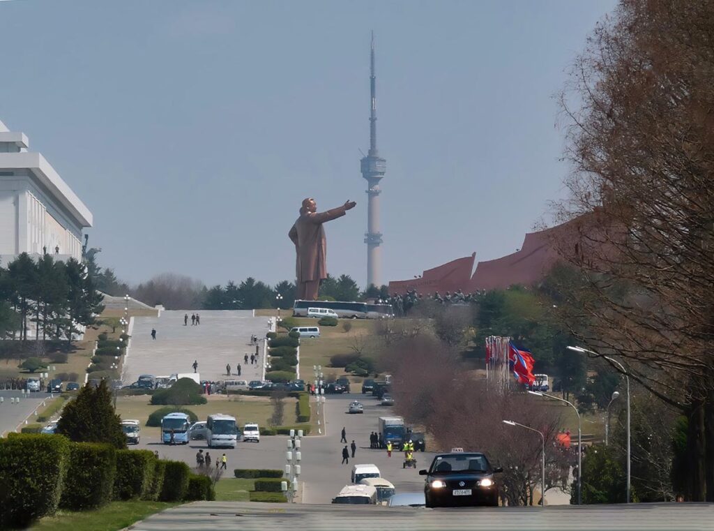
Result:
[[[86,384],[76,399],[64,407],[57,433],[75,442],[106,442],[119,449],[126,448],[121,418],[111,400],[106,380],[99,387]]]

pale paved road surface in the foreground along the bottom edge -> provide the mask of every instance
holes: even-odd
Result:
[[[131,529],[710,531],[713,521],[713,505],[689,503],[401,509],[369,505],[194,502],[160,512]]]

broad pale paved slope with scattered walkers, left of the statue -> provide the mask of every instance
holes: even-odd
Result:
[[[188,326],[183,315],[188,313]],[[134,317],[129,354],[124,362],[122,381],[135,382],[139,374],[168,375],[192,372],[193,360],[198,360],[201,379],[226,379],[226,363],[235,376],[236,364],[243,363],[243,354],[250,355],[256,347],[249,344],[251,334],[265,337],[266,317],[253,317],[251,311],[200,312],[201,324],[191,325],[191,312],[161,312],[161,317]],[[156,339],[151,339],[151,329]],[[263,342],[260,343],[263,359]],[[241,379],[261,379],[262,366],[243,365]]]

